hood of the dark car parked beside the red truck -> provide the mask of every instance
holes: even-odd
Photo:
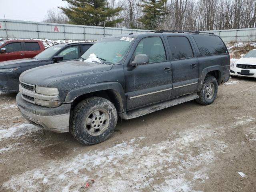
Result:
[[[29,66],[40,63],[42,60],[37,59],[16,59],[0,62],[0,69],[14,68],[20,66]]]

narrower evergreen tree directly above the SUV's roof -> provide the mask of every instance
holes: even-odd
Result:
[[[139,19],[144,25],[145,29],[157,30],[157,22],[166,14],[166,2],[167,0],[142,0],[142,4],[138,6],[142,7],[143,16]]]

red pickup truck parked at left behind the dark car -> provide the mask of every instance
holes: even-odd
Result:
[[[40,40],[0,41],[0,62],[14,59],[32,58],[44,50]]]

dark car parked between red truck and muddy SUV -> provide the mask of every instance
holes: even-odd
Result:
[[[80,58],[94,43],[57,44],[30,59],[0,62],[0,91],[18,92],[20,74],[28,69]]]

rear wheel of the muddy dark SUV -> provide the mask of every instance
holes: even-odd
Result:
[[[214,76],[207,75],[204,84],[199,92],[199,98],[196,100],[199,104],[209,105],[214,102],[218,92],[218,82]]]

